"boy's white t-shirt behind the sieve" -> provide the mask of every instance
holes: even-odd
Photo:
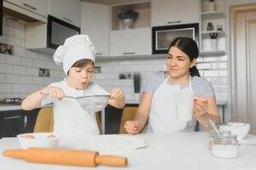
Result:
[[[96,82],[90,82],[83,90],[70,88],[67,85],[67,81],[54,82],[49,86],[62,88],[65,95],[73,97],[108,94],[108,92],[97,85]],[[54,104],[54,133],[61,135],[99,134],[95,113],[84,111],[76,99],[64,98],[58,100],[46,96],[41,101],[41,105],[49,103]]]

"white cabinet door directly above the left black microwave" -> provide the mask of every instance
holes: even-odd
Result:
[[[49,0],[49,14],[80,27],[81,2],[79,0]]]

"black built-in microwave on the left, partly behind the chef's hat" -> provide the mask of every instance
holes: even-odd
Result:
[[[80,28],[73,26],[63,20],[48,15],[47,20],[47,47],[58,48],[67,37],[80,34]]]

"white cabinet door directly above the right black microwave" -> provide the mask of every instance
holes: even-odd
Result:
[[[152,0],[151,26],[199,22],[199,0]]]

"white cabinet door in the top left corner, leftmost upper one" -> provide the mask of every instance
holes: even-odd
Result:
[[[48,15],[48,0],[7,0],[9,3],[14,3],[15,5],[26,8],[36,14],[41,14],[45,17]]]

